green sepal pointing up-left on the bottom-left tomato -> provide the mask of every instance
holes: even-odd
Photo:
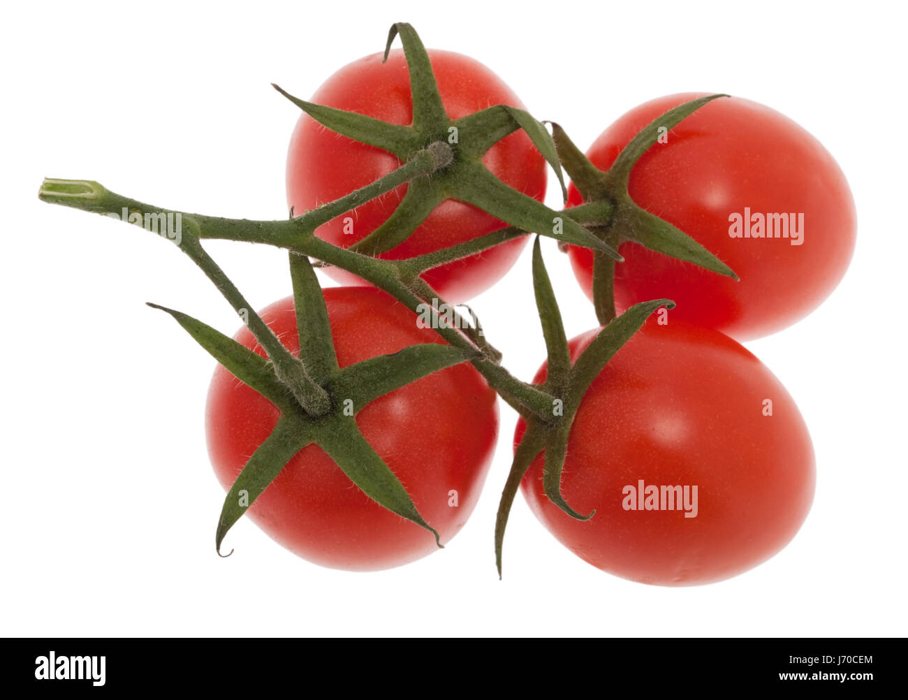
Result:
[[[243,384],[258,391],[281,410],[294,409],[296,401],[290,390],[281,384],[271,369],[271,363],[261,355],[192,316],[150,301],[148,306],[169,313],[193,340]]]

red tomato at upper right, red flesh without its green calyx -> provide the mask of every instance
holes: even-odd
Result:
[[[638,106],[609,126],[587,156],[606,170],[647,123],[698,96],[675,94]],[[629,192],[716,254],[741,281],[626,242],[619,248],[625,261],[616,267],[617,306],[672,299],[676,318],[737,340],[784,329],[813,311],[842,279],[854,251],[854,200],[833,157],[787,117],[737,97],[706,104],[672,129],[667,143],[650,148],[631,173]],[[569,202],[581,202],[576,188]],[[793,244],[794,228],[789,238],[732,238],[730,217],[743,220],[748,212],[752,232],[757,214],[785,214],[795,226],[803,215],[800,243]],[[782,220],[772,222],[782,232]],[[592,254],[571,248],[570,259],[590,295]]]

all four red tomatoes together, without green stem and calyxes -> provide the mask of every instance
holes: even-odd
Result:
[[[522,108],[485,66],[448,52],[429,56],[452,119],[490,104]],[[647,123],[695,96],[676,94],[638,106],[609,126],[587,157],[607,170]],[[409,124],[403,52],[392,51],[384,62],[380,54],[367,56],[341,68],[312,102]],[[484,163],[510,187],[542,200],[547,163],[526,133],[498,142]],[[291,140],[288,200],[292,210],[305,212],[399,166],[394,155],[333,133],[304,114]],[[363,203],[316,234],[349,247],[388,219],[407,187]],[[646,583],[708,583],[771,557],[795,536],[810,508],[814,454],[804,420],[785,388],[738,340],[785,328],[833,290],[854,248],[854,204],[843,174],[813,136],[785,116],[736,97],[706,104],[666,133],[637,162],[628,191],[640,207],[686,232],[740,279],[623,242],[624,261],[614,278],[618,311],[659,298],[676,301],[676,309],[646,322],[602,370],[577,411],[561,490],[573,508],[595,516],[571,518],[547,498],[541,455],[521,488],[545,526],[594,566]],[[572,185],[569,205],[581,201]],[[502,225],[487,212],[448,200],[382,257],[438,251]],[[423,277],[439,297],[466,301],[497,282],[526,241],[501,243]],[[577,280],[592,295],[593,253],[573,246],[568,253]],[[328,272],[349,285],[324,291],[341,367],[442,342],[385,292],[349,272]],[[299,351],[292,298],[272,304],[262,319],[289,350]],[[570,342],[574,358],[594,335],[592,330]],[[249,330],[235,338],[261,352]],[[545,380],[545,372],[543,367],[535,381]],[[356,418],[442,542],[469,518],[486,480],[498,436],[496,399],[479,372],[463,363],[376,399]],[[278,416],[228,370],[216,370],[207,426],[212,462],[225,488]],[[521,419],[515,444],[525,429]],[[437,548],[424,529],[353,487],[316,445],[291,459],[249,514],[283,546],[327,567],[395,567]]]

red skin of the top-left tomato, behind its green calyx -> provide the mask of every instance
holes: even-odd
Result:
[[[496,74],[473,59],[447,51],[429,51],[445,110],[452,119],[490,107],[508,104],[523,108]],[[331,75],[312,102],[350,110],[386,122],[410,124],[412,100],[410,73],[401,50],[360,58]],[[540,202],[546,192],[546,163],[526,133],[508,135],[484,157],[489,170],[511,187]],[[287,158],[287,201],[297,213],[338,199],[375,181],[400,165],[392,154],[354,142],[322,127],[303,114],[293,132]],[[321,226],[316,235],[348,247],[365,238],[397,208],[407,185],[372,200],[353,212]],[[344,232],[344,219],[352,219],[352,232]],[[407,258],[469,241],[502,226],[495,217],[465,204],[442,202],[406,241],[384,253],[391,259]],[[349,229],[348,229],[349,231]],[[525,237],[502,243],[468,258],[427,271],[423,277],[451,303],[466,301],[488,289],[507,272],[525,244]],[[329,274],[345,284],[365,284],[349,272],[330,268]]]

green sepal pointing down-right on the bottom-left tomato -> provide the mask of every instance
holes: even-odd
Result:
[[[318,444],[360,490],[383,508],[424,527],[442,547],[439,533],[422,519],[407,489],[362,437],[351,418],[335,418],[319,431]]]

